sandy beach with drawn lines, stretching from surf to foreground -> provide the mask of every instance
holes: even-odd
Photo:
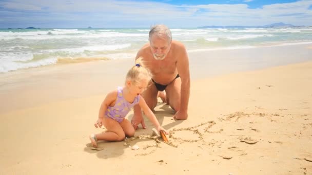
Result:
[[[191,52],[188,120],[155,108],[170,144],[145,119],[103,150],[88,136],[104,130],[93,126],[100,104],[133,60],[0,74],[0,174],[312,174],[311,55],[311,45]]]

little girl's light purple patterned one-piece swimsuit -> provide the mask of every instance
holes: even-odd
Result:
[[[124,120],[124,118],[126,117],[126,115],[129,113],[129,111],[131,110],[131,108],[135,105],[138,104],[140,101],[140,96],[136,96],[133,100],[132,103],[129,103],[128,101],[126,101],[126,99],[124,98],[123,95],[123,87],[118,87],[118,94],[117,94],[117,98],[115,101],[115,105],[114,106],[108,106],[106,111],[105,111],[105,116],[108,118],[111,118],[113,120],[118,121],[119,123],[122,122]]]

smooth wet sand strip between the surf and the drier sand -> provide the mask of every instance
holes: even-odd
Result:
[[[191,80],[311,61],[311,48],[296,45],[189,53]],[[0,74],[0,98],[6,99],[0,114],[42,103],[105,95],[124,83],[131,65],[131,59],[110,60]]]

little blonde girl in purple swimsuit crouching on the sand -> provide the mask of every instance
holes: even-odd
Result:
[[[126,136],[134,136],[134,128],[131,122],[125,119],[130,109],[139,104],[144,114],[157,127],[157,130],[167,131],[160,126],[157,118],[147,106],[144,98],[140,95],[147,88],[151,80],[150,72],[144,68],[142,58],[136,59],[135,65],[128,71],[124,87],[118,87],[107,94],[99,111],[99,119],[94,126],[104,125],[106,132],[91,134],[90,140],[93,147],[97,147],[97,140],[122,141]]]

